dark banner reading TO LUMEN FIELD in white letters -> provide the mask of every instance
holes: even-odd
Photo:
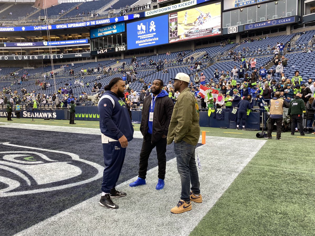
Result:
[[[27,56],[0,56],[0,61],[6,60],[43,60],[43,59],[65,59],[90,57],[90,53],[68,53],[56,55],[27,55]]]

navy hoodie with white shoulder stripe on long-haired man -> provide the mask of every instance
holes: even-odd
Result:
[[[116,140],[124,135],[128,142],[133,139],[134,128],[126,104],[116,93],[105,91],[99,100],[98,109],[102,134]]]

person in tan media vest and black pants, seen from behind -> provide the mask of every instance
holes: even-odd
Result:
[[[289,108],[289,103],[280,98],[280,92],[275,93],[275,97],[270,100],[270,116],[268,119],[268,132],[265,138],[272,138],[271,133],[273,125],[276,122],[277,125],[277,140],[281,139],[281,128],[283,120],[283,108]]]

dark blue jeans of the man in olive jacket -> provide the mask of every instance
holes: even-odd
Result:
[[[195,161],[195,149],[193,146],[181,140],[174,143],[177,171],[180,175],[181,195],[180,199],[190,201],[190,189],[194,194],[200,194],[200,183]],[[190,183],[192,188],[190,188]]]

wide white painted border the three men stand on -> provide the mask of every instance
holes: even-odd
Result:
[[[203,203],[192,202],[192,211],[170,213],[180,199],[181,189],[174,158],[167,162],[162,190],[155,190],[157,167],[154,167],[147,172],[146,185],[130,188],[128,184],[136,180],[134,177],[117,186],[127,192],[126,197],[113,198],[119,205],[117,210],[100,206],[99,194],[16,235],[189,235],[266,140],[207,136],[206,142],[198,147],[203,167],[199,171]],[[226,142],[229,149],[221,150],[222,143]]]

